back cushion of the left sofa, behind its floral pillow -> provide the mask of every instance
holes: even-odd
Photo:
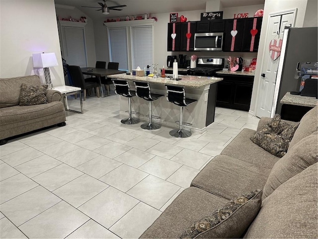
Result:
[[[36,75],[0,79],[0,108],[19,105],[22,83],[32,86],[42,85]]]

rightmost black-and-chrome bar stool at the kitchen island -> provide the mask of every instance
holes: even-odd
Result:
[[[183,110],[184,107],[191,105],[197,100],[185,98],[184,87],[165,85],[165,90],[167,92],[167,101],[180,106],[179,129],[173,129],[169,134],[177,138],[190,137],[192,135],[191,131],[182,128]]]

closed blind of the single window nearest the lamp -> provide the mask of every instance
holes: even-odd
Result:
[[[84,29],[79,27],[62,27],[64,59],[67,64],[87,67]]]

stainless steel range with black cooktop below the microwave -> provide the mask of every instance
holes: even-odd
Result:
[[[224,58],[198,58],[197,67],[188,72],[193,76],[215,76],[224,68]]]

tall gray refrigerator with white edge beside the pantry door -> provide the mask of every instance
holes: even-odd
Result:
[[[318,27],[284,29],[271,117],[281,114],[280,101],[287,92],[300,90],[297,68],[301,62],[318,62]]]

